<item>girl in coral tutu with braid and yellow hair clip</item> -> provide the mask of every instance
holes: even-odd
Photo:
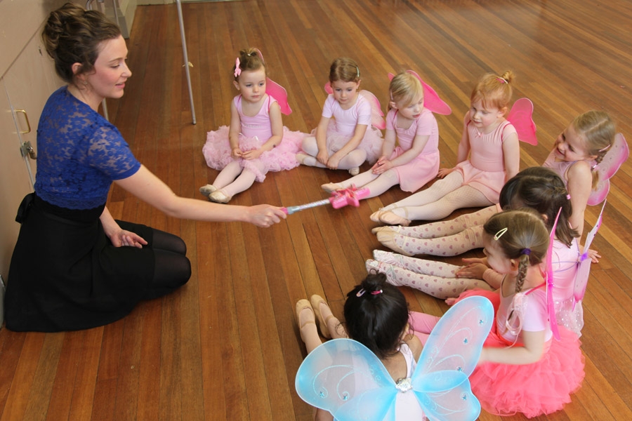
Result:
[[[472,392],[496,415],[560,410],[581,387],[584,356],[577,335],[564,326],[558,326],[560,340],[551,333],[543,276],[548,230],[535,211],[509,210],[485,222],[483,242],[487,262],[503,280],[495,292],[471,290],[460,297],[483,295],[496,312],[470,375]],[[410,324],[422,343],[438,319],[412,312]]]

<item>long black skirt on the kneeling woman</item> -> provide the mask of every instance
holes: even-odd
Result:
[[[103,208],[70,210],[34,193],[25,197],[6,286],[8,329],[57,332],[103,326],[145,298],[154,276],[153,229],[117,221],[147,246],[114,247],[99,219]]]

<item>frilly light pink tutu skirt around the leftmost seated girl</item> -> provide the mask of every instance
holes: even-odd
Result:
[[[235,161],[231,155],[230,142],[228,142],[228,130],[228,126],[220,126],[218,130],[206,133],[206,143],[202,147],[202,154],[204,154],[206,164],[213,169],[222,170],[228,163]],[[263,152],[258,159],[239,158],[237,161],[242,168],[255,173],[258,182],[262,182],[268,171],[291,170],[298,166],[296,152],[301,149],[304,137],[305,133],[289,131],[287,127],[284,127],[283,140],[277,147]],[[258,138],[246,138],[239,134],[239,147],[242,151],[258,149],[263,143],[265,141]]]

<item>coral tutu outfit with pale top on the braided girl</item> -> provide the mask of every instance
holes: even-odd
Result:
[[[546,330],[547,342],[540,360],[523,365],[482,363],[470,375],[472,392],[482,408],[496,415],[523,413],[527,417],[553,413],[571,401],[570,394],[584,380],[584,356],[581,342],[570,330],[559,326],[560,340],[551,338],[546,309],[546,290],[534,288],[525,292],[527,307],[522,330]],[[498,292],[470,290],[459,298],[483,295],[489,298],[496,312],[496,323],[485,340],[485,347],[507,347],[515,338],[505,332],[508,308],[514,295],[502,297]],[[518,336],[520,345],[520,336]]]

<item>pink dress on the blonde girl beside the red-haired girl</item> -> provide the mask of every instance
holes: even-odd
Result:
[[[429,136],[421,154],[404,165],[393,167],[404,192],[416,192],[427,182],[433,180],[439,172],[439,127],[435,115],[424,108],[421,115],[409,128],[397,127],[397,110],[391,109],[386,115],[386,130],[397,133],[397,147],[390,160],[397,158],[412,147],[415,136]]]

